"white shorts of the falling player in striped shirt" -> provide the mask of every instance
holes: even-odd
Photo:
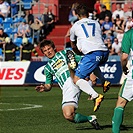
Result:
[[[73,83],[71,78],[68,78],[62,88],[62,108],[67,105],[73,105],[78,108],[78,101],[81,94],[80,89]]]

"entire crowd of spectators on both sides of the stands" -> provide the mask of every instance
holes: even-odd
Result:
[[[29,6],[22,6],[23,14],[19,14],[19,6],[27,1]],[[52,31],[55,26],[55,15],[49,6],[44,6],[43,14],[34,16],[32,14],[33,0],[0,0],[0,60],[14,61],[16,55],[18,60],[31,60],[31,55],[38,56],[35,47],[37,44]],[[73,3],[68,16],[68,21],[73,25],[78,17],[75,9],[79,3]],[[105,45],[110,50],[110,55],[120,55],[121,41],[124,32],[133,26],[132,6],[126,11],[123,10],[120,3],[116,4],[116,9],[112,12],[103,5],[100,0],[96,0],[93,12],[89,13],[89,18],[97,20],[101,26],[102,36]],[[69,30],[67,32],[69,36]],[[6,39],[8,38],[8,39]],[[10,38],[10,39],[9,39]],[[24,44],[23,40],[26,40]],[[8,41],[7,41],[8,40]],[[10,40],[10,41],[9,41]],[[7,45],[12,43],[15,45]],[[29,48],[29,44],[34,44]],[[27,46],[26,46],[27,45]],[[25,49],[25,47],[27,49]],[[12,53],[12,54],[11,54]],[[27,57],[23,58],[23,54]],[[30,54],[29,54],[30,53]],[[30,55],[30,56],[29,56]],[[10,58],[6,58],[6,57]],[[24,56],[25,57],[25,56]]]

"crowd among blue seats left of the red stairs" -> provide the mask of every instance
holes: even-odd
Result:
[[[31,60],[32,54],[38,56],[35,47],[54,28],[55,15],[49,6],[44,6],[43,13],[35,16],[32,4],[33,0],[0,0],[1,61]]]

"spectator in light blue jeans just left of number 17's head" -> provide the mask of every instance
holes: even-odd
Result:
[[[69,16],[68,16],[68,21],[71,23],[71,25],[73,25],[77,20],[78,20],[78,16],[75,12],[75,9],[77,8],[77,6],[79,5],[79,3],[73,3],[71,10],[69,12]]]

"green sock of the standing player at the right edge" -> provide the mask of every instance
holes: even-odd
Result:
[[[123,112],[124,112],[124,109],[122,107],[116,107],[114,109],[114,116],[112,118],[112,132],[113,133],[120,132],[120,126],[123,121]]]

